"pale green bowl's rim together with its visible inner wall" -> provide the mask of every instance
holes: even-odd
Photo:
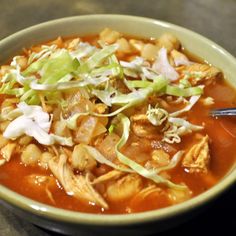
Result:
[[[236,60],[223,48],[214,42],[179,26],[169,23],[134,16],[122,15],[89,15],[70,17],[46,22],[28,29],[22,30],[0,42],[0,63],[9,60],[24,47],[30,47],[37,43],[56,38],[58,36],[84,36],[96,34],[103,28],[109,27],[124,34],[141,36],[144,38],[158,37],[164,32],[174,34],[188,51],[200,56],[207,62],[220,68],[226,79],[236,87]],[[163,219],[181,212],[189,211],[219,195],[225,188],[235,182],[236,169],[232,168],[229,173],[207,192],[182,204],[138,214],[130,215],[104,215],[103,217],[70,212],[47,206],[30,200],[11,190],[0,186],[0,197],[12,205],[42,215],[68,222],[83,222],[85,224],[130,224],[150,220]]]

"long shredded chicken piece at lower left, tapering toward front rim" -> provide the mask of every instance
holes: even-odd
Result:
[[[62,154],[59,159],[49,161],[49,168],[58,179],[67,194],[85,203],[93,202],[105,209],[108,208],[103,197],[92,187],[88,175],[75,175],[67,163],[67,156]]]

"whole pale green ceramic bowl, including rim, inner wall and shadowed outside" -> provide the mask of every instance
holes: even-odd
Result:
[[[16,55],[24,47],[58,36],[83,36],[100,32],[104,27],[139,37],[158,37],[173,33],[184,48],[222,69],[226,79],[236,87],[236,60],[214,42],[182,27],[166,22],[125,15],[87,15],[58,19],[15,33],[0,42],[0,63]],[[54,208],[0,186],[2,203],[26,220],[66,234],[147,235],[165,230],[195,215],[236,182],[236,168],[213,188],[184,203],[144,213],[96,215]]]

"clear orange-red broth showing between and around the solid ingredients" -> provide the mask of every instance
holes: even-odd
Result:
[[[84,37],[84,41],[96,44],[97,36]],[[50,44],[51,42],[49,42]],[[63,42],[56,41],[59,46],[63,47]],[[39,46],[33,47],[37,51]],[[122,55],[120,55],[122,56]],[[192,60],[196,61],[196,57],[188,54]],[[198,60],[198,59],[197,59]],[[236,92],[223,79],[217,80],[216,83],[206,86],[204,89],[205,96],[214,98],[215,104],[212,108],[221,107],[235,107],[236,106]],[[3,99],[3,96],[2,96]],[[236,160],[236,118],[212,118],[208,115],[209,108],[197,103],[188,114],[188,120],[194,124],[204,124],[203,134],[208,134],[211,140],[210,155],[211,161],[208,174],[190,174],[181,165],[169,171],[172,176],[172,181],[176,183],[184,182],[191,189],[193,196],[196,196],[214,184],[216,184],[233,166]],[[137,138],[130,136],[128,141],[132,139],[137,141]],[[144,147],[144,152],[151,152],[157,148],[159,142],[157,140],[145,140],[144,138],[138,140]],[[147,143],[147,145],[143,145]],[[174,149],[186,150],[193,142],[191,135],[184,136],[180,144],[172,145]],[[123,150],[125,152],[125,150]],[[108,167],[102,166],[109,170]],[[146,198],[133,197],[123,202],[109,203],[109,209],[105,210],[93,204],[84,204],[79,200],[69,196],[65,193],[60,184],[54,180],[50,184],[50,191],[53,194],[53,203],[45,191],[44,185],[29,184],[27,176],[35,175],[51,175],[49,170],[40,168],[39,166],[25,166],[20,162],[20,157],[15,156],[10,162],[0,167],[0,183],[8,188],[16,191],[26,197],[32,198],[42,203],[53,205],[55,207],[64,208],[73,211],[91,212],[91,213],[131,213],[142,212],[147,210],[159,209],[171,204],[165,194],[154,192]]]

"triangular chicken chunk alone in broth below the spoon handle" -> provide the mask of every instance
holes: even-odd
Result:
[[[190,173],[207,173],[207,167],[210,161],[209,137],[206,135],[193,145],[184,156],[182,165],[189,168]]]

